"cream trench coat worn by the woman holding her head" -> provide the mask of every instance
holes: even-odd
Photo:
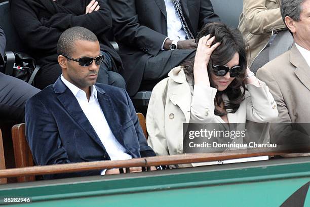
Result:
[[[225,124],[220,116],[214,115],[216,89],[196,85],[191,96],[182,67],[172,69],[168,76],[154,87],[146,114],[147,142],[157,155],[183,153],[183,123]],[[260,87],[247,85],[249,91],[239,109],[227,114],[229,123],[245,123],[246,119],[268,122],[278,117],[273,96],[264,82],[260,84]]]

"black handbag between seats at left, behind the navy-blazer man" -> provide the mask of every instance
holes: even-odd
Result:
[[[15,61],[13,66],[6,67],[5,73],[33,85],[33,79],[40,66],[35,64],[35,60],[23,52],[14,53]]]

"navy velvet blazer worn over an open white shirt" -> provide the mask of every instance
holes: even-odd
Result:
[[[96,84],[97,97],[115,138],[133,158],[155,156],[147,145],[124,89]],[[109,160],[102,142],[60,78],[26,103],[26,137],[38,165]],[[46,176],[47,179],[100,175],[101,171]]]

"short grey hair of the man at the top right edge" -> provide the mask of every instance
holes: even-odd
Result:
[[[303,3],[303,0],[281,0],[280,10],[284,22],[285,17],[290,17],[294,21],[300,20],[301,3]]]

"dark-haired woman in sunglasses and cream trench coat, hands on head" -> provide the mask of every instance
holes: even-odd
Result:
[[[268,87],[247,68],[246,43],[238,30],[211,23],[198,39],[195,58],[173,68],[152,91],[146,124],[148,144],[158,155],[183,153],[183,123],[224,126],[278,116]]]

